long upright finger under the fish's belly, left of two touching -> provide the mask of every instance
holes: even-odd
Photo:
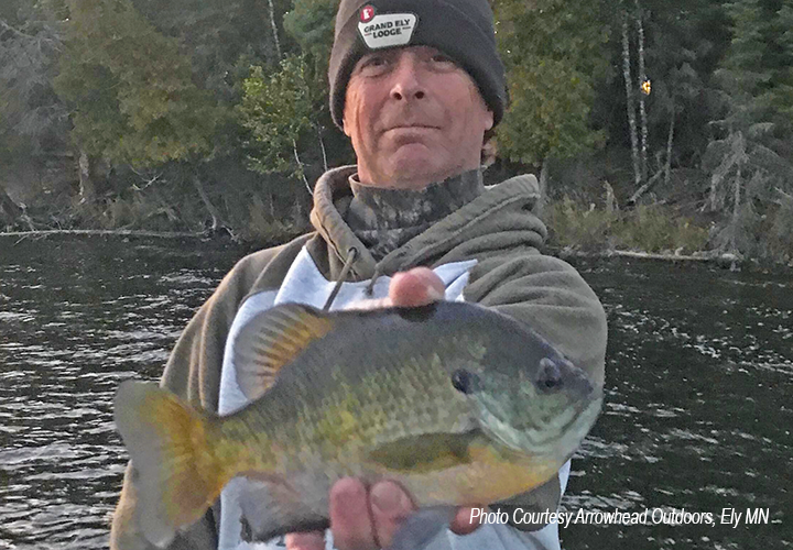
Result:
[[[338,550],[373,550],[369,495],[359,480],[345,477],[330,488],[330,529]]]

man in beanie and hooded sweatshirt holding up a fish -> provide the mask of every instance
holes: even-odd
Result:
[[[605,315],[575,270],[537,252],[546,231],[531,211],[536,180],[482,185],[482,143],[506,103],[487,0],[341,0],[329,79],[332,112],[357,166],[317,182],[314,233],[252,254],[226,276],[181,337],[162,384],[196,407],[229,414],[247,403],[232,351],[256,312],[287,301],[339,309],[439,298],[526,322],[602,384]],[[568,471],[513,504],[555,510]],[[149,548],[134,521],[134,486],[130,466],[112,548]],[[240,503],[252,491],[248,480],[233,480],[170,548],[243,548]],[[388,481],[343,480],[329,502],[340,550],[388,547],[414,508]],[[461,509],[454,532],[432,548],[558,548],[555,524],[477,527]],[[293,534],[286,544],[323,548],[323,534]]]

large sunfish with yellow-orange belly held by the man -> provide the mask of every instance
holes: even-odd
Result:
[[[463,302],[278,306],[243,327],[236,349],[252,400],[229,416],[153,383],[128,381],[116,395],[139,471],[138,521],[155,546],[236,476],[267,487],[248,517],[259,540],[327,527],[328,491],[344,476],[394,480],[419,506],[506,499],[557,473],[602,399],[536,332]]]

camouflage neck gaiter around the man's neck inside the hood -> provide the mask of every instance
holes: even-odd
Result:
[[[474,169],[421,190],[384,189],[350,177],[352,199],[346,221],[376,261],[385,257],[430,226],[470,202],[484,190],[481,170]]]

